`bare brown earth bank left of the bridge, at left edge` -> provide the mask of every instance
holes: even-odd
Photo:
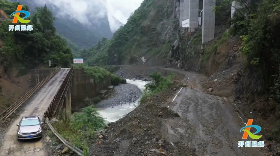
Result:
[[[30,74],[17,76],[17,69],[12,68],[9,73],[0,66],[0,113],[28,92]]]

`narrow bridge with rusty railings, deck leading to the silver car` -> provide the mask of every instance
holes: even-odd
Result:
[[[26,100],[25,106],[18,110],[18,117],[10,124],[8,131],[5,134],[2,140],[2,146],[0,148],[1,156],[46,155],[43,150],[43,143],[41,141],[42,139],[28,142],[17,140],[17,124],[24,116],[37,115],[41,120],[44,120],[46,117],[52,117],[56,115],[59,109],[61,109],[63,106],[66,108],[67,116],[71,117],[70,85],[72,75],[73,67],[61,69],[58,68],[56,70],[53,69],[52,75],[47,77],[48,80],[45,81],[45,84],[43,84],[32,95],[27,93],[23,96],[24,99],[26,99],[27,96],[30,98]],[[41,84],[38,83],[37,85]],[[36,88],[36,86],[34,88]],[[19,99],[18,101],[20,101],[20,103],[24,103],[24,100],[22,99]],[[15,111],[15,107],[19,107],[18,102],[1,114],[0,117],[2,120],[10,116],[10,114]]]

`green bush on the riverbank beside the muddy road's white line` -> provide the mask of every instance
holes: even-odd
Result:
[[[157,93],[171,87],[173,85],[175,76],[175,73],[171,73],[167,77],[162,76],[162,74],[157,72],[151,73],[150,78],[152,78],[154,82],[145,85],[146,88],[144,90],[143,97],[141,98],[141,102],[143,102],[148,97],[156,95]]]

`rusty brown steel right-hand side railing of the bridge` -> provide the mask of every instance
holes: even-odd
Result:
[[[62,104],[64,102],[64,97],[70,85],[72,75],[73,75],[73,66],[70,68],[70,71],[68,72],[62,84],[60,85],[58,91],[56,92],[54,98],[52,99],[52,102],[49,104],[48,109],[46,110],[44,115],[45,117],[48,117],[50,119],[51,117],[57,115],[57,111],[59,110],[59,108],[62,107]]]

